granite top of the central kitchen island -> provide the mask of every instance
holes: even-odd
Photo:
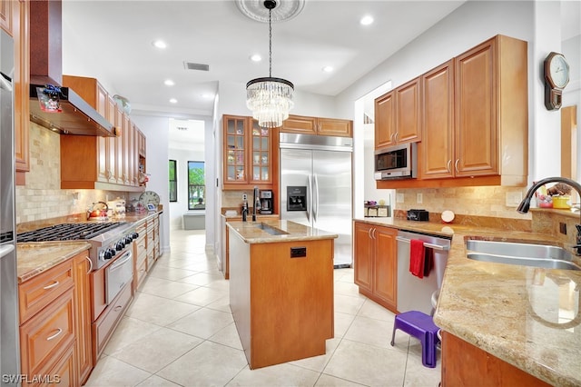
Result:
[[[339,235],[328,233],[300,223],[281,220],[262,220],[257,222],[228,222],[226,223],[233,233],[236,233],[245,243],[281,243],[291,241],[313,241],[318,239],[334,239]],[[272,235],[259,228],[261,224],[275,231],[282,232]]]

